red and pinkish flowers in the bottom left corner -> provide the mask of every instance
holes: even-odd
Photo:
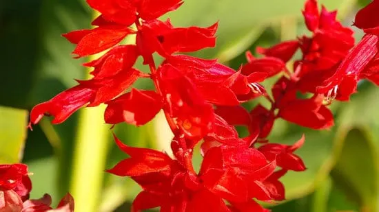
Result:
[[[0,165],[0,211],[74,211],[74,199],[70,193],[59,202],[57,209],[50,207],[52,200],[48,194],[39,200],[29,200],[32,190],[29,174],[28,166],[25,164]]]

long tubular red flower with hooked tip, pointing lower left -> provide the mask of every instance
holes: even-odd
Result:
[[[124,69],[109,78],[97,79],[95,75],[92,80],[77,80],[79,85],[34,106],[30,112],[30,122],[37,124],[43,115],[52,115],[52,123],[61,123],[83,106],[98,106],[110,101],[129,88],[140,75],[141,72],[136,69]]]

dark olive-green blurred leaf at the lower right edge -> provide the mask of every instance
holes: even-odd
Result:
[[[346,129],[339,159],[331,172],[334,182],[364,211],[378,211],[379,154],[369,131]]]

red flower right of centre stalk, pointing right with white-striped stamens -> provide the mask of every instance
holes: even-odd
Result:
[[[165,62],[187,75],[209,103],[236,106],[265,93],[262,82],[267,73],[254,72],[243,75],[215,60],[203,60],[190,56],[171,56]]]

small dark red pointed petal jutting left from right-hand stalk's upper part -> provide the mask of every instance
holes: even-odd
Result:
[[[298,50],[299,42],[298,40],[289,40],[267,49],[262,47],[257,47],[256,51],[259,54],[264,54],[265,56],[279,58],[283,62],[288,62],[294,56],[295,52]]]

